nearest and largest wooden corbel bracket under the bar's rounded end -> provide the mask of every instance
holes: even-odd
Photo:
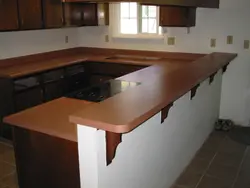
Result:
[[[112,163],[115,158],[116,149],[118,145],[122,142],[121,133],[112,133],[106,131],[106,160],[107,166]]]

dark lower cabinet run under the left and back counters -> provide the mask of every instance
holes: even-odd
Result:
[[[0,137],[12,140],[12,127],[2,122],[5,116],[144,67],[116,63],[84,62],[14,80],[0,78]],[[20,188],[22,187],[20,186]],[[24,188],[28,187],[24,186]]]

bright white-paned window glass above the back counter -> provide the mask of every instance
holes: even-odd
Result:
[[[120,34],[160,35],[159,8],[138,3],[120,3]]]

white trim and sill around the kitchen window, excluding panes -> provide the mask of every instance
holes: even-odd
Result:
[[[110,4],[110,33],[113,38],[138,38],[138,39],[164,39],[163,34],[157,33],[137,33],[137,34],[122,34],[120,28],[120,3]],[[138,8],[139,9],[139,8]],[[139,14],[139,13],[138,13]],[[157,11],[157,25],[159,25],[159,11]]]

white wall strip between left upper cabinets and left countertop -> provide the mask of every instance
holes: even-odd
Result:
[[[65,36],[69,42],[65,43]],[[78,46],[77,29],[0,32],[0,59]]]

